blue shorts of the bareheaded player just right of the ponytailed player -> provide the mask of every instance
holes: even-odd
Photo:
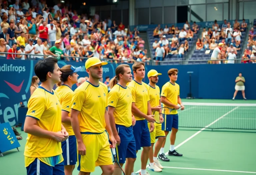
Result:
[[[133,135],[135,138],[136,150],[140,150],[141,147],[151,146],[147,120],[136,121],[136,124],[133,126]]]

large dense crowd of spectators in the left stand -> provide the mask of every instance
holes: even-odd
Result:
[[[129,31],[110,17],[78,15],[71,4],[48,7],[45,0],[0,0],[0,57],[7,59],[43,59],[53,55],[66,61],[85,61],[98,57],[109,61],[149,61],[145,41],[139,31]],[[24,53],[28,55],[17,55]]]

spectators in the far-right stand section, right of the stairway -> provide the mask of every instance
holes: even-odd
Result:
[[[217,48],[218,43],[223,43],[219,59],[229,60],[216,63],[235,63],[235,59],[243,59],[242,63],[256,63],[256,60],[250,60],[250,58],[256,58],[256,33],[254,28],[251,28],[249,31],[246,49],[242,50],[241,40],[243,37],[245,39],[245,35],[242,36],[242,33],[245,34],[247,25],[244,19],[241,24],[235,20],[233,26],[226,20],[224,20],[222,25],[219,25],[215,20],[212,28],[208,28],[208,30],[206,28],[203,29],[201,38],[198,38],[196,42],[196,50],[206,51],[205,53],[209,54]]]

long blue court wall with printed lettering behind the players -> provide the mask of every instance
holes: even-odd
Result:
[[[19,103],[27,105],[30,97],[30,83],[34,73],[33,60],[0,60],[0,123],[9,122],[11,126],[19,121]],[[59,61],[59,67],[66,65],[66,62]],[[71,62],[75,67],[82,66],[79,76],[88,76],[83,63]],[[116,64],[108,64],[103,67],[103,78],[115,76]],[[170,68],[179,70],[178,81],[180,85],[180,97],[186,98],[189,93],[189,74],[192,74],[192,93],[195,98],[204,99],[232,99],[235,87],[235,78],[239,72],[245,77],[245,92],[247,99],[256,99],[255,75],[256,64],[220,64],[220,65],[167,65],[167,66],[146,66],[146,74],[151,69],[156,69],[163,75],[159,76],[158,86],[163,86],[169,81],[167,71]],[[148,78],[144,80],[148,83]],[[73,90],[77,86],[73,86]],[[238,93],[237,99],[242,99]]]

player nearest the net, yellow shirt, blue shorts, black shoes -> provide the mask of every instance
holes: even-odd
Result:
[[[181,110],[184,110],[184,105],[180,99],[180,86],[176,83],[178,78],[178,69],[170,69],[168,71],[168,76],[170,81],[165,83],[162,87],[161,92],[161,102],[164,104],[164,107],[174,108],[176,110],[172,110],[171,113],[169,111],[164,111],[165,118],[164,122],[162,123],[162,130],[165,132],[165,136],[168,135],[170,131],[170,150],[168,152],[169,156],[182,156],[182,154],[178,153],[174,149],[174,143],[176,139],[176,133],[178,132],[178,109],[180,108],[178,104],[181,106]],[[165,145],[166,138],[162,144],[162,148],[160,149],[158,158],[166,161],[165,154],[164,154],[164,145]]]

